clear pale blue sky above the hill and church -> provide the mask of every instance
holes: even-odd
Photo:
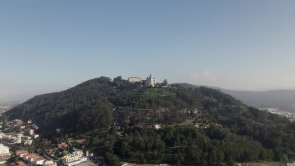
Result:
[[[0,100],[121,75],[295,89],[295,0],[0,0]]]

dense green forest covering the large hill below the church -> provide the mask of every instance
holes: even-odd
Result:
[[[288,119],[249,107],[216,89],[163,85],[145,87],[121,77],[100,77],[35,96],[6,116],[32,119],[40,132],[47,132],[43,134],[63,127],[67,133],[85,137],[86,148],[103,153],[114,166],[119,158],[194,165],[295,158],[295,124]],[[167,125],[160,130],[140,126],[139,119],[123,122],[118,134],[113,125],[115,107],[165,109],[170,116],[161,119]],[[180,125],[187,119],[208,128]]]

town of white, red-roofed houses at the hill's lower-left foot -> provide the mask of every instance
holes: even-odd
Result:
[[[54,140],[40,139],[32,120],[0,122],[0,164],[16,166],[103,166],[103,158],[83,151],[85,139],[73,139],[57,128]],[[83,162],[83,163],[82,163]],[[79,165],[82,163],[81,165]],[[100,165],[99,165],[100,164]]]

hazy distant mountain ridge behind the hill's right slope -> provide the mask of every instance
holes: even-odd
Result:
[[[195,88],[200,86],[189,83],[178,84],[186,88]],[[295,112],[295,90],[238,91],[223,89],[219,87],[211,88],[219,89],[222,92],[241,100],[247,105],[259,108],[274,107]]]

